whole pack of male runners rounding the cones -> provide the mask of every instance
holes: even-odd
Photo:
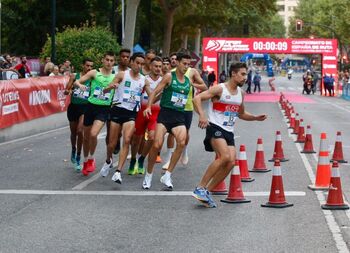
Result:
[[[144,174],[142,187],[150,189],[154,165],[168,133],[160,181],[165,190],[172,190],[172,173],[178,161],[188,163],[187,145],[195,110],[199,115],[198,126],[206,128],[205,150],[215,152],[217,159],[209,165],[193,197],[207,207],[216,207],[209,192],[229,174],[234,164],[236,118],[264,120],[266,116],[255,116],[244,109],[240,88],[247,76],[244,63],[232,64],[230,79],[209,90],[190,63],[191,56],[186,50],[161,58],[153,50],[131,55],[129,49],[122,49],[117,66],[114,66],[114,53],[106,52],[99,69],[93,69],[93,62],[85,59],[82,72],[71,75],[66,91],[72,96],[67,115],[71,161],[76,170],[85,176],[95,171],[97,136],[106,124],[107,152],[100,175],[109,174],[113,153],[120,149],[112,180],[121,184],[121,172],[131,149],[128,174]],[[208,117],[202,108],[206,100],[209,100]]]

